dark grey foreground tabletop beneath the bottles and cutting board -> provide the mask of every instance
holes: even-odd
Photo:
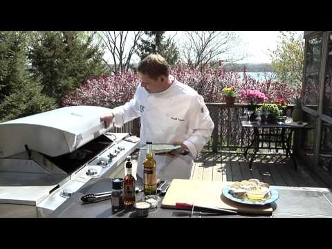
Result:
[[[192,218],[245,218],[245,217],[332,217],[332,193],[326,188],[313,187],[281,187],[273,186],[278,190],[280,197],[273,203],[273,213],[269,216],[255,214],[216,215],[193,212]],[[111,179],[92,178],[70,199],[57,208],[50,218],[134,218],[132,211],[113,213],[111,200],[99,203],[82,204],[80,198],[84,194],[106,192],[111,188]],[[137,199],[143,198],[143,193],[137,194]],[[151,211],[148,218],[189,218],[190,211],[169,210],[160,206]]]

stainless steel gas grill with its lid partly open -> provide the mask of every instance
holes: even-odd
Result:
[[[99,117],[109,111],[64,107],[1,123],[0,217],[48,216],[138,148],[129,133],[107,132]]]

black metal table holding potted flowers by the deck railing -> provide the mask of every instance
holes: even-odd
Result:
[[[297,126],[297,125],[291,125],[293,122],[292,118],[288,118],[285,124],[278,124],[278,123],[260,123],[260,122],[248,122],[248,121],[242,121],[241,126],[243,128],[247,129],[254,129],[253,136],[251,138],[250,145],[246,147],[246,150],[244,151],[244,156],[247,156],[248,149],[250,147],[254,148],[254,152],[250,158],[249,161],[249,168],[252,169],[252,162],[255,159],[255,156],[257,154],[257,151],[259,150],[259,143],[260,142],[277,142],[282,145],[282,149],[286,151],[286,156],[290,156],[293,160],[293,163],[295,165],[295,170],[297,170],[297,164],[295,161],[295,158],[293,156],[293,152],[291,151],[291,144],[292,144],[292,138],[293,138],[293,132],[300,130],[300,129],[311,129],[308,124],[305,126]],[[259,133],[259,128],[268,129],[269,131],[271,129],[275,130],[281,130],[280,133]],[[266,139],[268,138],[268,140]],[[272,139],[271,139],[272,138]]]

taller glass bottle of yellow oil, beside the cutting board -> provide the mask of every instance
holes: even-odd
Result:
[[[147,157],[143,162],[144,166],[144,194],[156,194],[157,192],[157,174],[156,160],[152,154],[152,142],[147,142]]]

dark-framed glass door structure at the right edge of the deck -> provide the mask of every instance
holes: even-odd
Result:
[[[332,179],[332,33],[305,38],[302,109],[313,129],[302,133],[302,151],[311,169]]]

